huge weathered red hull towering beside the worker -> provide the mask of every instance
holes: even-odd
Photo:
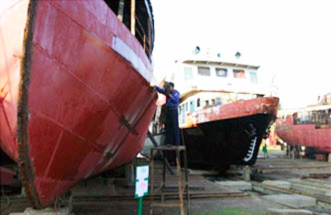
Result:
[[[105,3],[22,1],[0,21],[1,147],[34,207],[134,159],[157,95],[143,48]]]

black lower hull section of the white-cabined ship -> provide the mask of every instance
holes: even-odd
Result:
[[[266,129],[275,119],[272,114],[255,114],[182,129],[189,168],[253,165]]]

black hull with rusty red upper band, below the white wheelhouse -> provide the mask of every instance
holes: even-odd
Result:
[[[276,97],[218,105],[192,112],[182,127],[191,168],[224,170],[253,165],[266,130],[276,120]]]

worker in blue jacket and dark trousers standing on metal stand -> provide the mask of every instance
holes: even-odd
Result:
[[[166,82],[164,88],[155,87],[155,90],[167,97],[166,131],[169,145],[180,145],[178,126],[179,92],[174,89],[172,82]]]

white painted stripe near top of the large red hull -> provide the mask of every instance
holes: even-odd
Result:
[[[123,40],[114,36],[112,49],[129,61],[139,74],[142,75],[148,83],[151,83],[152,71],[145,66],[142,59],[140,59],[140,57]]]

